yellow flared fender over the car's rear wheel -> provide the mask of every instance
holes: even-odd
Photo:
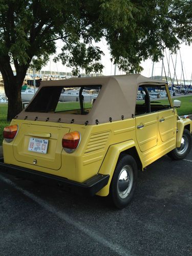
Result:
[[[118,144],[111,145],[109,147],[109,150],[106,153],[106,156],[102,162],[102,165],[98,173],[103,175],[108,174],[110,175],[110,179],[108,184],[104,186],[100,191],[98,191],[96,195],[101,197],[106,197],[109,195],[111,180],[112,180],[113,173],[114,173],[117,161],[119,159],[120,153],[125,150],[129,150],[129,148],[132,148],[134,146],[137,147],[134,140],[128,140]]]

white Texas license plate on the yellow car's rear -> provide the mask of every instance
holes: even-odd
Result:
[[[29,139],[29,146],[28,151],[47,154],[49,140],[45,139],[37,139],[37,138],[30,138]]]

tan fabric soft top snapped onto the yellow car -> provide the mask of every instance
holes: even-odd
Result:
[[[150,79],[140,74],[42,81],[39,90],[42,87],[49,86],[91,87],[95,85],[101,85],[102,88],[96,101],[93,104],[92,110],[87,115],[74,115],[62,112],[34,113],[25,112],[25,110],[23,110],[17,118],[25,119],[27,116],[27,120],[34,120],[37,117],[38,121],[46,121],[46,119],[49,118],[49,121],[57,122],[57,120],[59,120],[59,122],[62,123],[71,123],[71,120],[74,119],[74,123],[76,124],[84,124],[87,122],[88,125],[97,123],[96,120],[98,120],[98,123],[106,123],[109,122],[110,119],[112,121],[121,120],[122,116],[124,116],[124,119],[127,119],[131,118],[135,113],[135,105],[139,86],[163,86],[165,84],[165,81]],[[37,91],[37,94],[39,90]]]

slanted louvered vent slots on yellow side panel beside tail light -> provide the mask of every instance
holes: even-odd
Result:
[[[88,141],[84,154],[104,150],[106,141],[109,138],[109,134],[110,134],[110,131],[104,132],[104,133],[92,134]]]

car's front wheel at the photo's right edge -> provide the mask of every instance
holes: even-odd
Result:
[[[181,160],[189,153],[191,145],[191,134],[187,129],[184,129],[181,139],[181,146],[174,148],[174,150],[169,152],[167,155],[174,160]]]

